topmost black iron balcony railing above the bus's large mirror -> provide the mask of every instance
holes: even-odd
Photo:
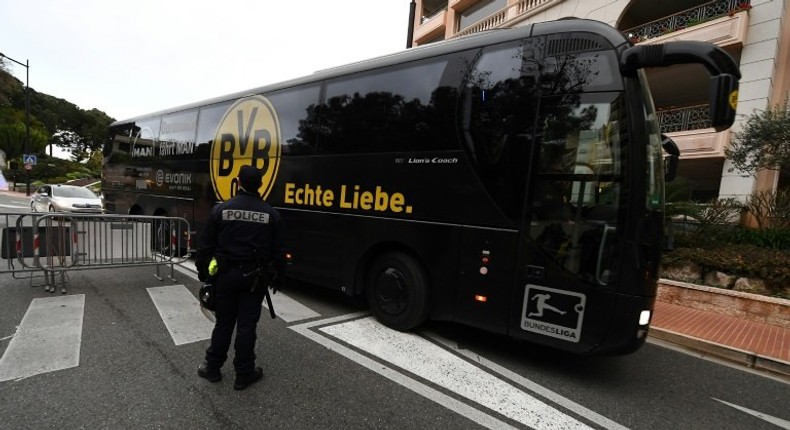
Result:
[[[640,42],[653,37],[663,36],[673,31],[693,27],[697,24],[734,15],[738,12],[751,9],[751,0],[714,0],[703,5],[686,9],[674,15],[648,22],[623,33],[632,42]]]

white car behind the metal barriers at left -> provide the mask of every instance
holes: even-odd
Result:
[[[102,213],[104,206],[93,191],[74,185],[42,185],[30,196],[33,212]]]

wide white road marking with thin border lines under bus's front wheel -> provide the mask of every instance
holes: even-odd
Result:
[[[507,380],[458,357],[456,353],[462,350],[457,347],[448,351],[419,335],[388,329],[369,315],[367,312],[357,312],[311,321],[290,328],[486,428],[513,428],[511,424],[491,411],[535,429],[590,428],[573,416],[531,396],[518,387],[521,386],[604,428],[625,429],[616,422],[520,375],[504,368],[497,368],[495,364],[471,351],[461,355],[467,358],[477,357],[476,363],[482,362],[484,367],[499,373]],[[441,339],[436,335],[429,335]],[[346,344],[374,356],[375,359],[357,352]],[[392,367],[386,364],[391,364]],[[448,396],[421,382],[423,380],[469,399],[480,408]]]

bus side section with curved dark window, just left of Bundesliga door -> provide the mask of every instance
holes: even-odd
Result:
[[[484,196],[462,228],[454,319],[507,333],[529,174],[544,41],[526,38],[469,54],[459,131]],[[471,211],[470,211],[471,212]]]

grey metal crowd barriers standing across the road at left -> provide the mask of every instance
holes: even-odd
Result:
[[[5,221],[5,222],[2,222]],[[0,274],[39,273],[47,291],[66,292],[67,272],[115,267],[170,266],[189,258],[184,218],[71,213],[0,214]]]

